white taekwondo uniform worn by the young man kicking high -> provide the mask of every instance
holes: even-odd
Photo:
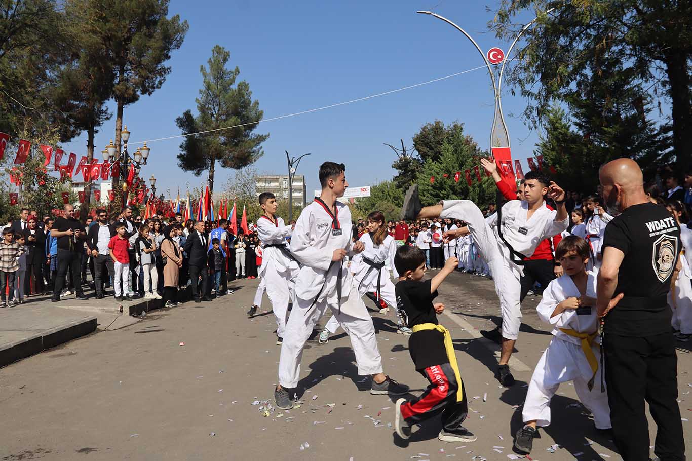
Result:
[[[514,251],[528,257],[534,254],[542,240],[565,230],[570,224],[570,217],[556,222],[557,212],[549,210],[543,203],[531,215],[531,219],[527,219],[529,204],[523,200],[510,200],[502,206],[502,222],[498,223],[497,213],[486,219],[473,201],[444,200],[441,203],[440,217],[463,219],[466,222],[474,244],[493,275],[502,311],[502,337],[516,339],[522,317],[519,297],[523,272],[521,266],[513,262],[509,248],[500,239],[498,225],[502,226],[502,235]]]

